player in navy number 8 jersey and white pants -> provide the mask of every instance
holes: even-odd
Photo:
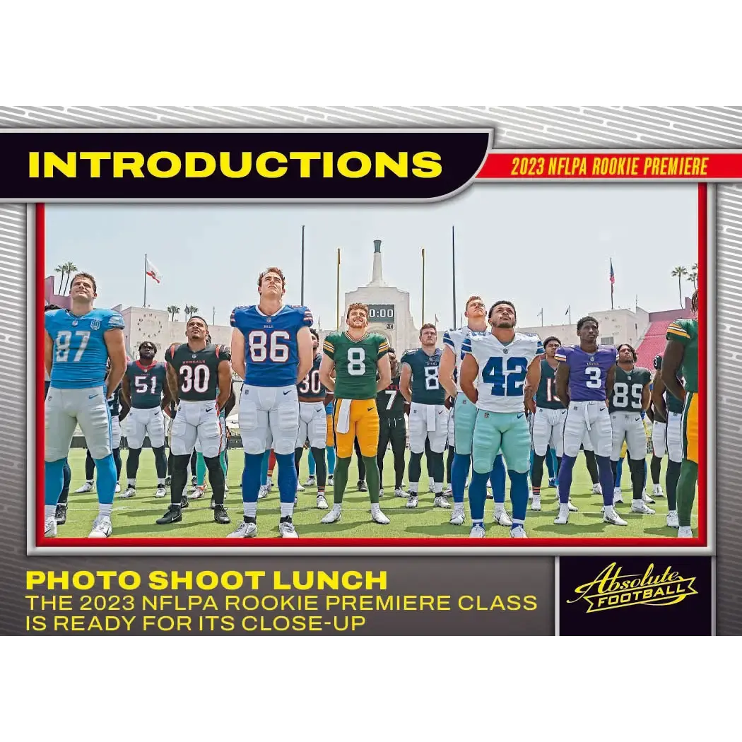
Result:
[[[410,402],[410,490],[407,508],[417,508],[421,460],[425,441],[430,441],[430,469],[433,470],[433,507],[450,508],[443,494],[443,452],[448,439],[449,410],[446,390],[439,380],[441,349],[436,348],[438,332],[433,324],[420,329],[420,346],[402,356],[399,390]]]

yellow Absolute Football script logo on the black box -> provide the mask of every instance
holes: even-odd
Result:
[[[594,580],[575,588],[577,597],[567,603],[584,600],[588,604],[586,613],[629,605],[675,605],[698,594],[693,588],[695,580],[695,577],[683,577],[672,566],[656,572],[654,564],[643,574],[624,574],[616,562],[611,562]]]

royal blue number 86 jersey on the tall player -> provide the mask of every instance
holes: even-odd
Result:
[[[245,336],[245,383],[272,389],[296,384],[296,335],[312,323],[306,306],[283,306],[275,315],[264,315],[257,306],[235,307],[229,324]]]

